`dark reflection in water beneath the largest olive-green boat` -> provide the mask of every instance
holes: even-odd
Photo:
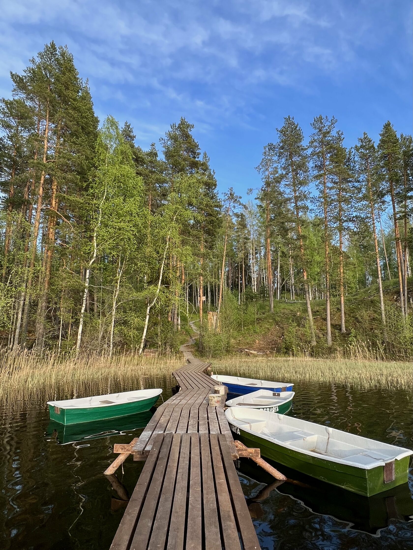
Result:
[[[274,480],[250,460],[241,459],[236,463],[253,519],[265,520],[264,508],[270,503],[267,499],[273,498],[276,506],[276,491],[299,500],[313,513],[333,516],[339,521],[348,522],[351,529],[367,533],[377,533],[387,527],[392,519],[413,519],[413,500],[407,483],[372,497],[364,497],[300,474],[271,460],[268,462],[286,475],[289,481]]]

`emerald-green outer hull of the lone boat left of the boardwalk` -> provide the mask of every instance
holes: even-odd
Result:
[[[119,418],[121,416],[136,414],[137,412],[148,411],[155,405],[158,399],[159,395],[155,395],[155,397],[149,397],[148,399],[129,401],[128,403],[119,403],[118,405],[73,409],[62,409],[49,405],[49,414],[51,420],[64,425],[94,422],[95,420]]]

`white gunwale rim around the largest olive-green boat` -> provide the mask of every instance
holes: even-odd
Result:
[[[405,447],[398,447],[397,445],[391,445],[390,443],[382,443],[382,442],[377,442],[377,443],[381,443],[383,445],[389,445],[389,447],[395,447],[396,449],[403,449],[403,452],[402,453],[399,453],[398,455],[394,456],[393,458],[390,458],[389,460],[385,461],[383,459],[376,459],[376,461],[374,461],[373,463],[370,463],[370,464],[356,464],[356,463],[353,463],[349,460],[346,460],[345,458],[338,458],[338,457],[335,457],[335,456],[332,456],[332,455],[323,455],[323,454],[320,454],[320,453],[315,453],[311,450],[307,450],[307,449],[300,449],[299,447],[295,447],[294,445],[291,445],[289,444],[288,442],[281,442],[281,441],[277,441],[275,438],[271,438],[270,436],[267,436],[266,434],[263,434],[263,433],[260,433],[260,432],[254,432],[253,430],[249,430],[248,428],[244,427],[244,426],[237,426],[235,422],[232,422],[232,420],[240,420],[241,419],[237,419],[237,417],[233,414],[234,413],[234,410],[235,409],[238,409],[238,410],[241,410],[243,412],[246,412],[248,409],[253,409],[253,410],[258,410],[256,408],[253,408],[253,407],[246,407],[246,408],[243,408],[243,407],[229,407],[225,410],[225,416],[226,416],[226,419],[227,421],[236,426],[238,428],[238,430],[242,430],[246,433],[251,433],[252,435],[256,436],[256,437],[260,437],[262,439],[265,439],[265,441],[268,441],[269,443],[272,443],[274,445],[279,445],[279,447],[284,447],[286,449],[289,449],[291,450],[292,452],[296,452],[297,454],[301,454],[301,455],[305,455],[305,456],[311,456],[312,458],[316,458],[316,459],[319,459],[319,460],[322,460],[323,462],[334,462],[336,464],[342,464],[344,466],[351,466],[351,467],[355,467],[355,468],[358,468],[360,470],[372,470],[378,466],[384,466],[385,464],[389,463],[389,462],[392,462],[393,460],[401,460],[403,458],[405,458],[406,456],[410,456],[410,455],[413,455],[413,450],[410,450],[410,449],[406,449]],[[231,416],[232,418],[230,419],[229,418],[229,411],[231,411]],[[282,414],[279,414],[278,412],[269,412],[269,411],[263,411],[261,410],[260,412],[265,412],[266,414],[275,414],[277,416],[284,416]],[[301,419],[296,419],[296,420],[301,420]],[[310,424],[314,424],[316,422],[309,422],[307,420],[302,420],[302,422],[308,422]],[[321,424],[316,424],[317,426],[322,426]],[[294,427],[294,426],[291,426],[291,427]],[[328,426],[324,426],[324,427],[328,427]],[[338,431],[338,432],[343,432],[343,430],[337,430],[337,428],[332,428],[333,430],[335,431]],[[300,431],[300,428],[297,428],[296,431]],[[349,433],[349,432],[343,432],[343,433]],[[312,434],[312,435],[318,435],[316,433]],[[368,437],[363,437],[363,436],[357,436],[356,434],[351,434],[352,436],[355,436],[355,437],[360,437],[362,439],[369,439],[369,441],[376,441],[375,439],[370,439]],[[368,449],[366,449],[368,450]],[[360,453],[362,454],[362,453]]]

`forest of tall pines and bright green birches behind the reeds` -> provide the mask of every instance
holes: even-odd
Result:
[[[334,116],[310,135],[285,116],[257,159],[259,188],[220,196],[190,121],[145,150],[128,122],[97,119],[66,47],[51,42],[10,78],[4,350],[174,350],[194,321],[208,355],[277,327],[271,353],[412,356],[412,136],[383,121],[347,146]]]

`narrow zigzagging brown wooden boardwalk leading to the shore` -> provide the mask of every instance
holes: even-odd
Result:
[[[146,460],[111,550],[256,550],[258,539],[233,464],[238,458],[209,364],[182,346],[180,391],[155,412],[132,453]]]

